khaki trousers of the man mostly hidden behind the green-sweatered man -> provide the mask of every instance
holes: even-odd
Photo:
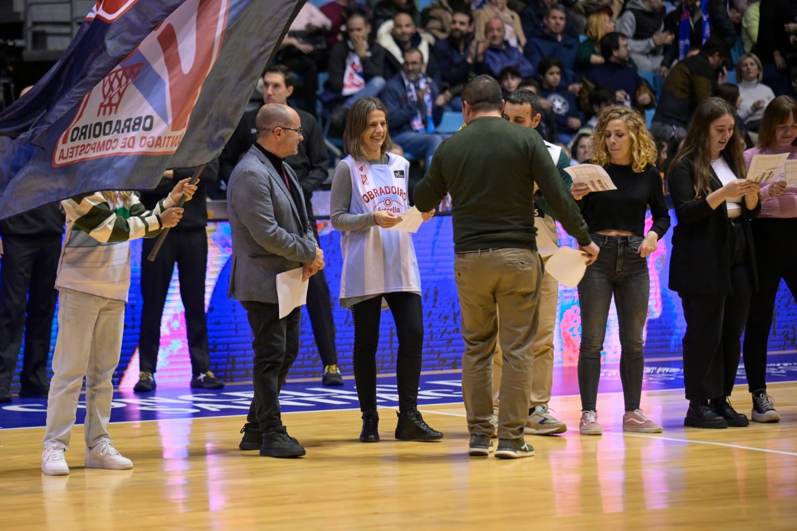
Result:
[[[543,264],[548,258],[542,258]],[[551,387],[553,384],[553,332],[556,328],[556,303],[559,301],[559,282],[550,274],[545,273],[540,287],[540,319],[537,327],[537,336],[534,339],[532,360],[532,392],[528,399],[528,409],[538,405],[548,407],[551,400]],[[493,356],[493,409],[498,411],[498,391],[501,384],[501,372],[504,368],[504,358],[501,355],[501,346],[496,347]]]

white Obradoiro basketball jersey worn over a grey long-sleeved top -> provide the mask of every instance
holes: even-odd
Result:
[[[376,210],[402,214],[407,210],[410,163],[398,155],[387,155],[387,164],[359,163],[351,155],[344,159],[351,173],[351,214]],[[398,291],[420,293],[421,275],[409,232],[381,226],[343,230],[340,249],[344,256],[341,299]]]

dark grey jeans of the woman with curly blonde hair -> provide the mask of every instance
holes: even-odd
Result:
[[[637,254],[641,236],[590,234],[600,247],[594,264],[579,282],[581,306],[581,348],[579,348],[579,390],[583,411],[595,411],[600,380],[600,353],[606,337],[611,297],[617,308],[620,328],[620,380],[626,411],[639,408],[642,349],[647,319],[650,281],[647,260]]]

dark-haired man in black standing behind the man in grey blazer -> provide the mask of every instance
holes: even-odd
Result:
[[[288,104],[288,98],[293,92],[295,77],[283,65],[272,65],[265,69],[263,76],[263,102],[266,104]],[[296,179],[304,194],[304,204],[310,219],[313,234],[318,240],[316,218],[312,213],[312,192],[328,177],[329,154],[324,144],[324,133],[318,122],[308,112],[296,110],[301,122],[304,140],[299,143],[296,155],[289,155],[285,162],[296,172]],[[238,164],[238,159],[257,140],[255,118],[257,112],[246,112],[241,118],[241,123],[235,129],[233,136],[227,142],[222,155],[219,156],[219,179],[230,179],[233,168]],[[319,271],[309,279],[307,293],[307,313],[310,316],[312,332],[316,336],[316,345],[321,361],[324,363],[324,385],[343,385],[343,376],[338,368],[338,352],[335,347],[335,322],[332,321],[332,303],[329,299],[329,286],[324,272]]]

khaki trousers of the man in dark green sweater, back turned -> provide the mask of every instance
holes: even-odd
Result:
[[[493,354],[500,328],[504,371],[498,437],[522,439],[532,388],[532,348],[542,279],[540,255],[525,249],[457,253],[453,267],[465,340],[462,397],[468,430],[472,434],[493,433]]]

